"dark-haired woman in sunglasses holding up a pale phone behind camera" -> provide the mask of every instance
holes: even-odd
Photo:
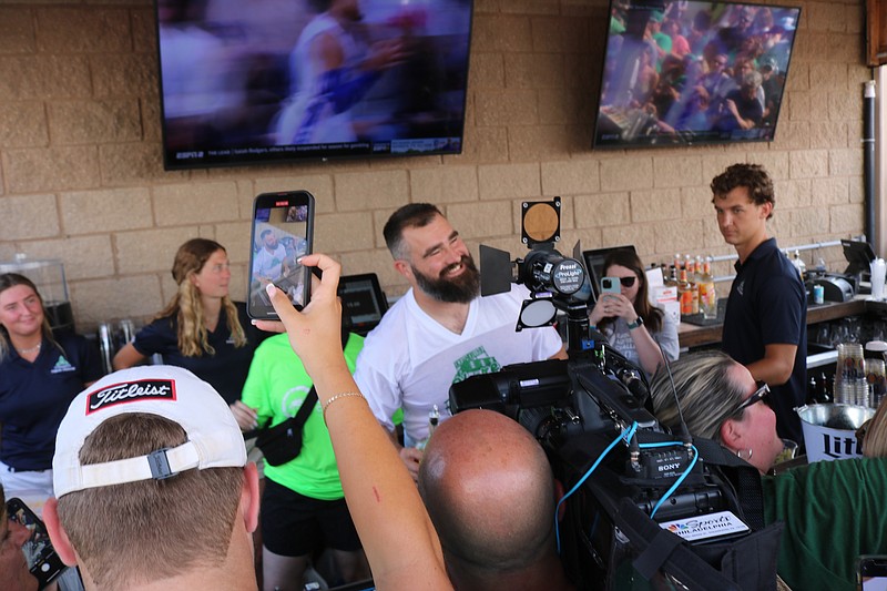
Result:
[[[604,276],[619,278],[621,293],[601,294],[589,323],[614,349],[652,376],[662,364],[663,353],[670,360],[677,359],[677,323],[650,304],[646,275],[632,251],[613,252],[603,269]]]

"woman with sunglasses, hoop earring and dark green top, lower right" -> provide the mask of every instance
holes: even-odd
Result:
[[[766,384],[715,350],[671,369],[674,389],[664,369],[651,384],[659,420],[679,431],[676,396],[691,435],[720,441],[762,475],[769,470],[783,442]],[[766,523],[785,522],[777,571],[792,589],[855,590],[856,559],[887,553],[887,459],[819,461],[762,478]]]

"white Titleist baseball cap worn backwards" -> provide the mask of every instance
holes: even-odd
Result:
[[[146,456],[80,463],[83,441],[103,421],[146,412],[177,422],[187,441]],[[55,437],[55,497],[86,488],[163,479],[192,468],[243,467],[243,434],[222,396],[187,369],[151,365],[110,374],[71,403]]]

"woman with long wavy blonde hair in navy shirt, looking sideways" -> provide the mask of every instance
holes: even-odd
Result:
[[[192,238],[179,247],[172,275],[179,291],[154,320],[114,356],[124,369],[160,354],[163,363],[191,370],[210,383],[231,406],[244,430],[256,428],[255,410],[241,403],[253,353],[262,335],[245,305],[228,296],[231,268],[225,247]]]

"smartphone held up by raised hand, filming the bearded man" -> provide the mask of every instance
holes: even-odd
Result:
[[[251,318],[276,318],[265,291],[269,283],[289,296],[302,309],[310,297],[310,273],[297,263],[312,253],[314,243],[314,196],[307,191],[263,193],[253,204],[249,251]]]

